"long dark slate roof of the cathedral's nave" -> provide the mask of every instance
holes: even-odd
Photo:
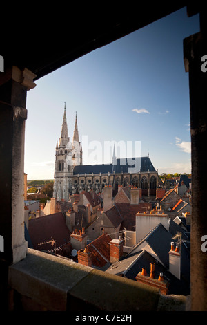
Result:
[[[136,160],[135,160],[136,159]],[[132,160],[135,163],[132,165]],[[137,166],[138,165],[138,166]],[[141,165],[141,167],[139,167]],[[121,172],[128,173],[128,168],[136,167],[136,172],[147,172],[147,171],[155,171],[155,167],[152,165],[152,162],[149,157],[139,157],[139,158],[117,158],[117,165],[112,164],[100,164],[100,165],[79,165],[75,166],[73,169],[73,174],[112,174],[115,171],[115,174],[119,174]],[[138,168],[138,170],[137,170]]]

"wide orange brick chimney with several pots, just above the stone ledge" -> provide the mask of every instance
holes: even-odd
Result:
[[[159,277],[156,279],[155,263],[150,263],[150,276],[147,275],[146,268],[142,268],[142,271],[136,276],[136,280],[141,284],[159,288],[161,295],[168,295],[169,282],[164,279],[163,273],[159,273]]]

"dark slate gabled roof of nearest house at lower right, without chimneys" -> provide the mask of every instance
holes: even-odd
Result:
[[[150,263],[155,263],[155,275],[159,275],[159,272],[164,273],[164,279],[170,281],[169,294],[190,294],[190,245],[189,243],[181,244],[181,280],[178,280],[169,271],[169,255],[170,243],[173,241],[177,231],[182,233],[182,239],[189,241],[186,232],[177,225],[175,222],[170,222],[169,231],[164,228],[161,223],[157,225],[149,234],[145,236],[132,250],[123,256],[119,261],[114,263],[112,266],[105,267],[105,271],[115,274],[124,275],[128,279],[136,281],[136,275],[141,271],[141,268],[146,267],[147,274],[150,275]],[[141,243],[148,243],[150,252],[153,250],[157,258],[152,256],[146,250],[141,250]],[[140,248],[140,249],[139,249]],[[163,263],[163,264],[162,264]]]

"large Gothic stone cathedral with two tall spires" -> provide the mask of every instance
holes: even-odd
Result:
[[[139,169],[130,168],[128,158],[116,158],[115,150],[112,163],[83,165],[83,151],[79,141],[77,114],[72,142],[68,136],[66,104],[63,113],[61,136],[55,149],[55,174],[53,197],[68,201],[70,194],[94,190],[101,193],[103,187],[112,186],[117,192],[119,186],[141,188],[143,197],[155,196],[160,180],[158,171],[152,165],[149,156],[138,159]]]

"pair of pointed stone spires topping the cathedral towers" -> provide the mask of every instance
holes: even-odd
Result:
[[[59,147],[66,147],[70,138],[68,137],[68,125],[67,125],[67,119],[66,119],[66,102],[64,106],[64,114],[63,114],[63,123],[62,123],[62,129],[61,129],[61,137],[59,139]],[[77,127],[77,112],[75,115],[75,129],[73,133],[73,139],[72,139],[72,144],[74,142],[79,143],[79,131]]]

